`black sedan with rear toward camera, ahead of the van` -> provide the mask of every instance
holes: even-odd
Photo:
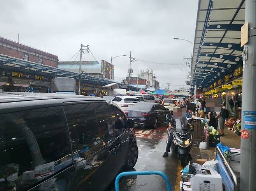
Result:
[[[165,115],[169,113],[163,105],[149,102],[136,103],[126,110],[126,114],[135,121],[135,125],[151,126],[154,129],[159,123],[166,121]]]

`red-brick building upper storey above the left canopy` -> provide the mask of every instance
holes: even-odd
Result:
[[[0,37],[0,54],[58,67],[58,56]]]

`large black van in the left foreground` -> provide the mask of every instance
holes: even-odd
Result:
[[[101,191],[137,162],[134,121],[97,97],[0,93],[0,191]]]

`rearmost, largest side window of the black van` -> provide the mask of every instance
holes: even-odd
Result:
[[[72,164],[71,153],[62,107],[0,115],[0,188],[3,190],[16,186],[16,191],[20,191],[33,186]]]

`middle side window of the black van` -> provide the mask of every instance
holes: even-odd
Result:
[[[64,106],[74,154],[87,157],[114,139],[107,103]]]

